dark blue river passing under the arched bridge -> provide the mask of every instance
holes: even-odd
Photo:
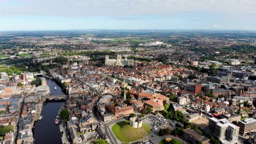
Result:
[[[50,95],[65,95],[61,87],[52,79],[46,79],[50,88]],[[54,87],[57,87],[55,90]],[[55,125],[55,119],[59,108],[64,104],[62,101],[45,101],[43,103],[42,120],[35,122],[33,137],[34,144],[62,144],[62,132],[59,131],[59,125]]]

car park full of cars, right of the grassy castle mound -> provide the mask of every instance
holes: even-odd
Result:
[[[150,125],[152,131],[157,132],[159,132],[159,130],[163,128],[171,128],[172,130],[174,130],[178,123],[177,121],[166,119],[159,115],[148,116],[147,118],[144,118],[143,121]]]

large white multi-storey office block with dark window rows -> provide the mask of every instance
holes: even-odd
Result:
[[[239,127],[228,121],[226,118],[210,118],[208,129],[221,140],[236,142],[239,134]]]

